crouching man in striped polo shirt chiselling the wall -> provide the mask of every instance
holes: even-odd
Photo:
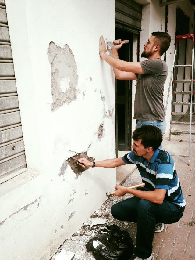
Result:
[[[137,223],[136,260],[152,260],[152,241],[158,223],[175,223],[183,216],[186,202],[183,197],[175,163],[170,154],[158,149],[162,142],[161,130],[152,125],[137,128],[132,135],[133,151],[121,158],[95,163],[81,158],[81,167],[113,168],[124,164],[136,164],[144,190],[115,186],[115,196],[126,193],[133,197],[114,204],[111,214],[122,221]],[[162,231],[161,229],[160,231]]]

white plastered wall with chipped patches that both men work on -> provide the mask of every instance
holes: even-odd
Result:
[[[101,34],[114,38],[115,1],[6,0],[6,9],[29,170],[1,185],[1,259],[49,259],[116,183],[115,169],[76,178],[61,168],[84,151],[96,161],[115,157],[115,80],[98,52]],[[78,73],[76,100],[54,112],[51,41],[69,45]]]

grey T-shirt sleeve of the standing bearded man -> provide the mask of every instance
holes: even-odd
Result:
[[[151,59],[140,61],[144,74],[158,74],[162,71],[161,59]]]

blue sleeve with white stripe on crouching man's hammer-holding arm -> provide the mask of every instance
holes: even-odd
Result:
[[[173,179],[173,167],[171,163],[161,162],[158,165],[156,175],[156,189],[169,190]]]

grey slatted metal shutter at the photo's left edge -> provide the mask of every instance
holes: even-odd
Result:
[[[0,0],[0,183],[26,169],[5,1]]]

